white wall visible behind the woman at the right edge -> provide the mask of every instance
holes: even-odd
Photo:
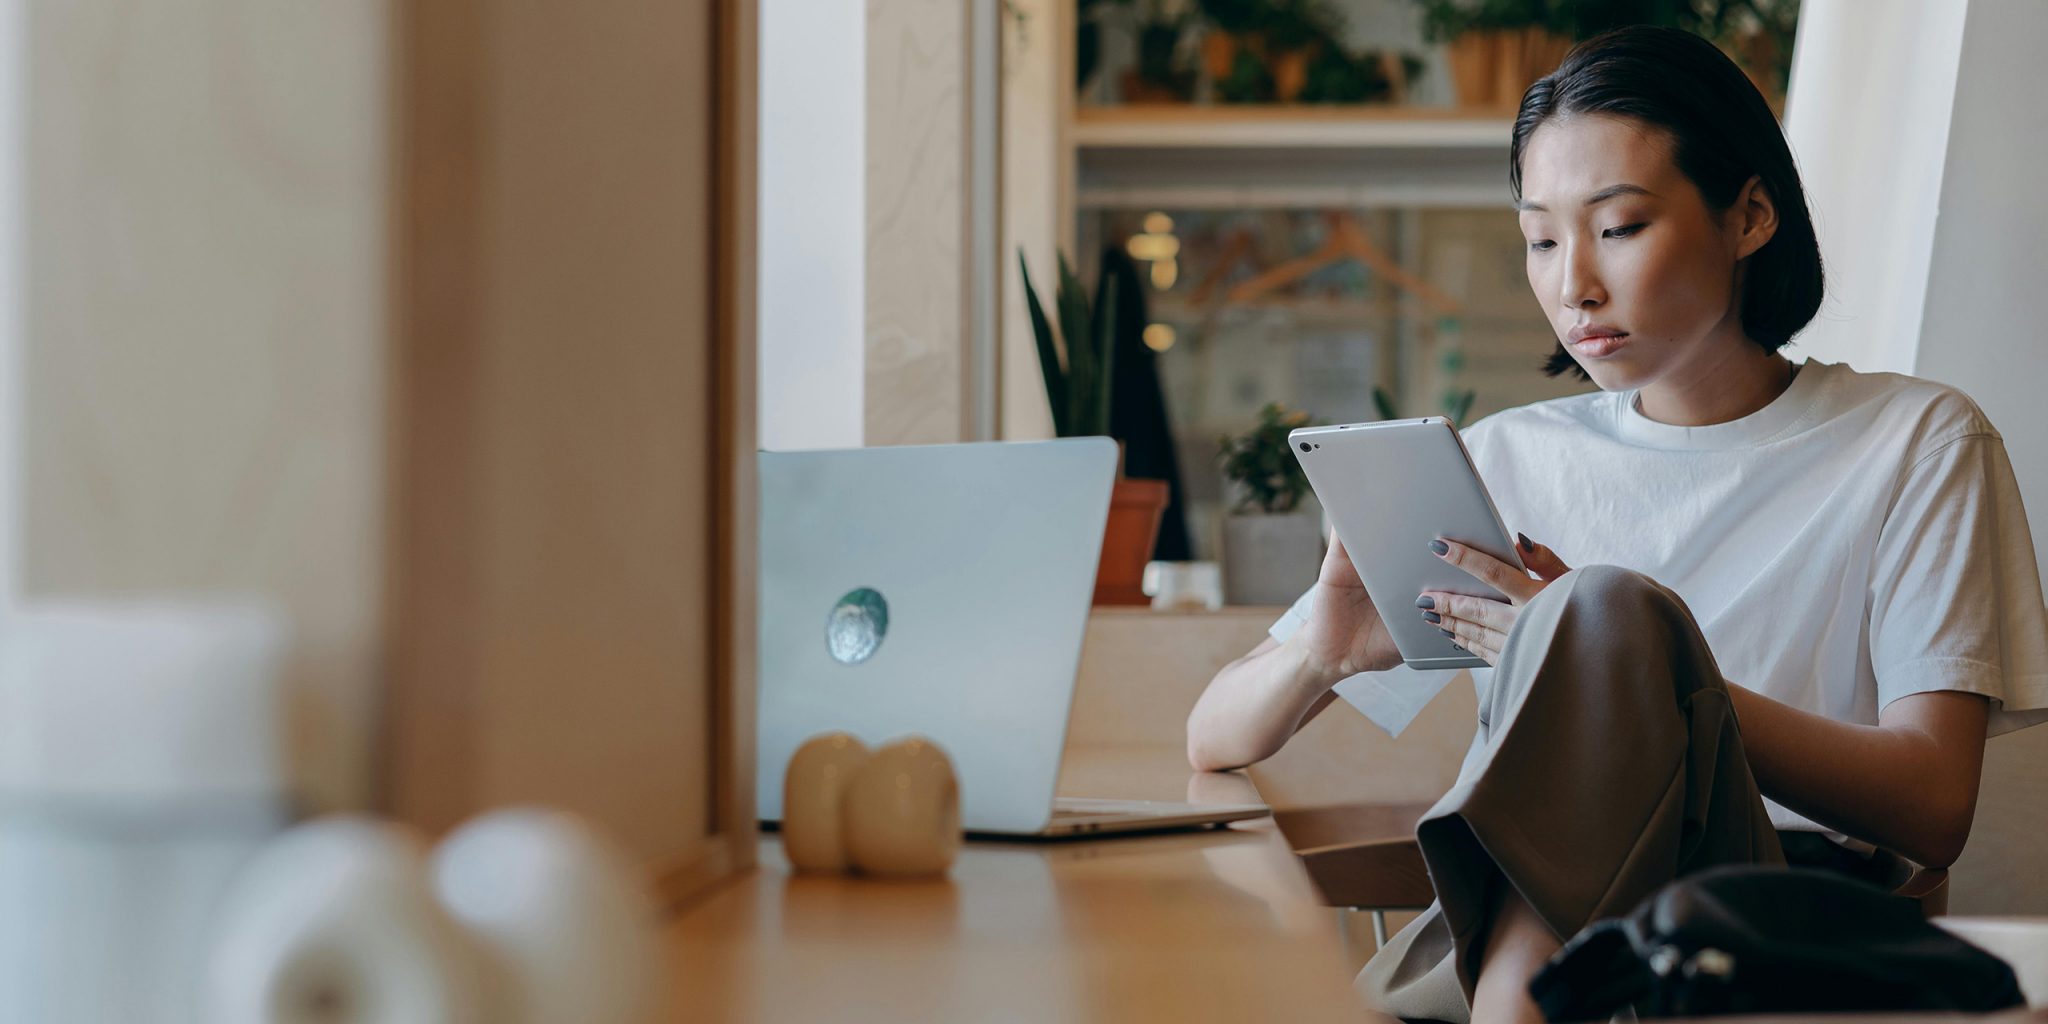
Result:
[[[1827,260],[1806,354],[1962,387],[2048,557],[2048,4],[1806,0],[1786,133]],[[2036,563],[2036,569],[2042,565]],[[2048,727],[1985,750],[1958,913],[2048,913]]]

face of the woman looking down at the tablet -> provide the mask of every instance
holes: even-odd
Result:
[[[1530,289],[1593,383],[1683,385],[1751,344],[1737,264],[1763,244],[1743,223],[1753,193],[1708,209],[1669,135],[1638,121],[1563,117],[1530,135],[1518,203]]]

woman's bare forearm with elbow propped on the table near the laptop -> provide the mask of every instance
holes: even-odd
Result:
[[[1188,764],[1227,772],[1262,762],[1337,694],[1298,645],[1260,643],[1231,662],[1188,713]]]

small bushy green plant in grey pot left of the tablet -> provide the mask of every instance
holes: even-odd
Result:
[[[1221,438],[1223,475],[1239,500],[1223,518],[1223,602],[1288,604],[1323,565],[1323,522],[1303,506],[1309,475],[1286,434],[1309,414],[1268,403],[1251,430]]]

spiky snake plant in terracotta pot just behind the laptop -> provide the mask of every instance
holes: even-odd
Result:
[[[1044,397],[1053,406],[1053,432],[1063,438],[1110,436],[1110,383],[1116,375],[1116,279],[1104,274],[1090,301],[1081,281],[1073,276],[1067,256],[1059,256],[1059,338],[1053,322],[1030,285],[1030,266],[1018,250],[1024,272],[1024,301],[1030,307],[1032,338],[1038,342],[1038,369],[1044,371]],[[1065,340],[1065,360],[1061,360]],[[1159,539],[1159,518],[1165,514],[1167,483],[1163,479],[1124,477],[1116,463],[1116,487],[1110,494],[1110,522],[1102,532],[1102,561],[1096,567],[1096,604],[1151,604],[1145,596],[1145,563]]]

